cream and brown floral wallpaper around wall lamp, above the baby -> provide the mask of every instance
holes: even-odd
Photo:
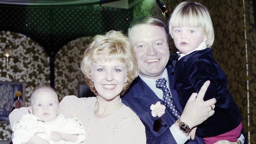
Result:
[[[3,57],[6,44],[13,49],[8,70]],[[0,81],[26,82],[26,106],[29,105],[32,90],[41,83],[50,82],[48,63],[48,56],[43,48],[29,37],[10,31],[0,31]],[[9,138],[9,124],[0,124],[0,140]]]

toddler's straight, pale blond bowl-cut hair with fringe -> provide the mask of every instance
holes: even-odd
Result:
[[[214,41],[214,30],[207,7],[198,2],[181,2],[175,7],[169,20],[169,31],[173,38],[173,27],[202,27],[206,33],[206,44],[210,48]]]

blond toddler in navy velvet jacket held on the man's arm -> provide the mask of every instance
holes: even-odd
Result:
[[[217,100],[215,108],[209,107],[209,111],[215,110],[214,115],[197,127],[196,135],[203,137],[206,144],[218,140],[238,142],[242,130],[241,116],[227,90],[226,75],[211,53],[214,31],[208,9],[197,2],[181,2],[171,15],[169,30],[179,50],[178,61],[173,59],[172,63],[176,79],[174,87],[179,93],[182,107],[207,80],[211,84],[204,100]]]

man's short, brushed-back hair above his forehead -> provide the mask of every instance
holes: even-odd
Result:
[[[128,36],[130,35],[130,31],[132,30],[132,28],[134,26],[139,26],[139,25],[149,25],[149,26],[160,26],[161,28],[163,28],[165,30],[165,35],[166,35],[166,39],[167,42],[169,42],[169,30],[168,28],[165,26],[165,24],[154,17],[140,17],[137,19],[132,20],[132,22],[130,23],[130,26],[128,28]]]

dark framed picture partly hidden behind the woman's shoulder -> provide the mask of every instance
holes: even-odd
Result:
[[[91,91],[90,87],[85,82],[78,83],[78,98],[93,97],[95,94]]]

